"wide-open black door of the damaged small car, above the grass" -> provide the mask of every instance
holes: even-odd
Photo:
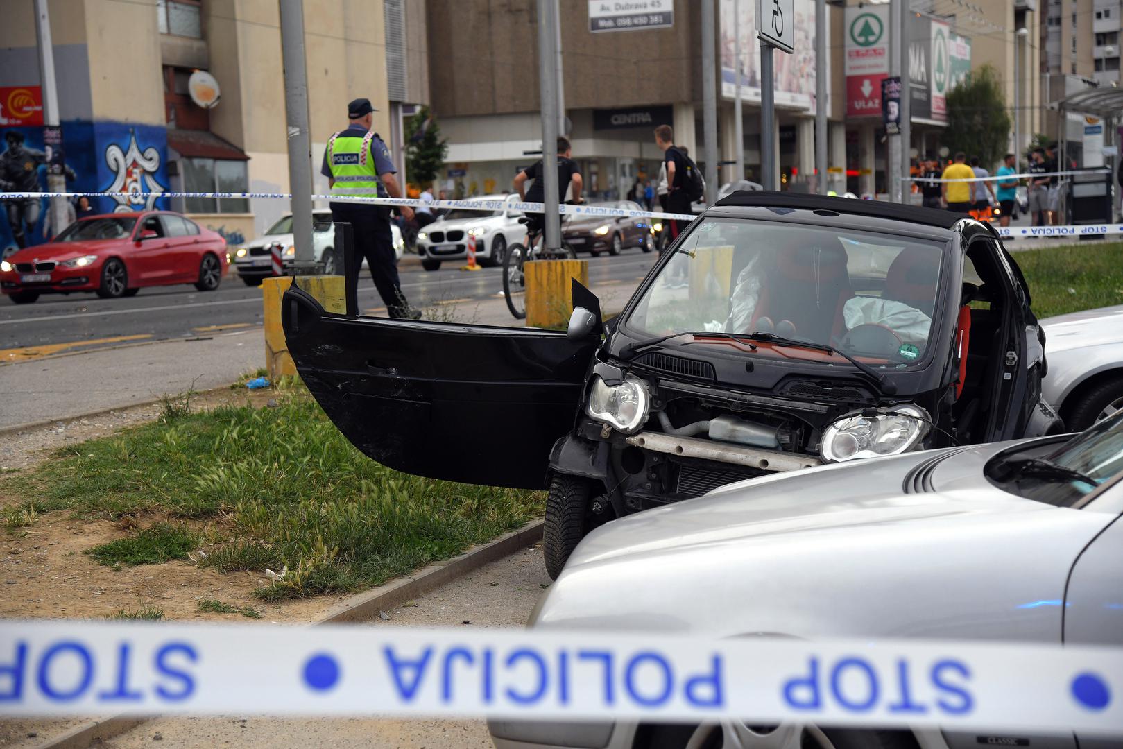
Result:
[[[597,341],[564,332],[325,312],[284,294],[289,353],[355,447],[419,476],[542,488]]]

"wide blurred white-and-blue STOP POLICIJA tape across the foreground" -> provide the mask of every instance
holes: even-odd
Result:
[[[1123,649],[390,625],[0,623],[0,716],[104,711],[1123,734]]]

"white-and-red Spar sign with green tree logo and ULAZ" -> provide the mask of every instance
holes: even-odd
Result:
[[[889,74],[888,6],[850,6],[844,22],[847,117],[880,117],[882,80]]]

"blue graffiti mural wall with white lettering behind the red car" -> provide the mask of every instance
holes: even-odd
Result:
[[[124,122],[63,122],[66,189],[70,192],[128,192],[93,198],[93,212],[166,209],[167,131]],[[46,241],[47,199],[4,198],[4,192],[47,189],[42,127],[0,127],[0,253]],[[140,193],[157,193],[156,195]],[[67,218],[76,200],[67,203]]]

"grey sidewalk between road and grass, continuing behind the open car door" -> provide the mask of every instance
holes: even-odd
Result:
[[[634,283],[605,284],[593,292],[604,310],[619,310]],[[427,317],[446,322],[521,327],[502,296],[436,304]],[[382,313],[380,313],[380,317]],[[188,390],[237,382],[265,366],[262,328],[212,338],[163,340],[48,356],[0,366],[0,430],[74,419],[152,402]]]

